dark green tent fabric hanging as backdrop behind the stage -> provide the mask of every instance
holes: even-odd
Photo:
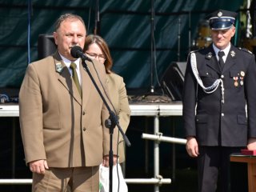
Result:
[[[150,88],[151,83],[158,86],[171,62],[186,61],[207,14],[217,9],[238,11],[242,6],[242,0],[232,4],[224,0],[98,0],[99,19],[95,22],[97,0],[30,0],[28,52],[28,2],[0,2],[0,87],[21,86],[28,54],[31,62],[38,59],[38,35],[52,34],[60,14],[82,16],[87,34],[94,33],[97,26],[98,34],[110,46],[114,72],[122,75],[129,89]],[[155,51],[151,54],[153,23]]]

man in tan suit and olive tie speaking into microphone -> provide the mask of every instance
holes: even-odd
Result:
[[[73,46],[84,46],[85,38],[82,18],[63,14],[55,26],[56,53],[27,67],[19,106],[32,191],[64,192],[70,186],[74,192],[98,192],[98,168],[109,153],[109,130],[103,126],[109,114],[81,59],[70,54]],[[92,62],[86,64],[100,85]],[[106,85],[104,66],[94,65]]]

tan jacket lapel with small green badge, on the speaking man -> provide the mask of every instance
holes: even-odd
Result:
[[[72,97],[80,105],[82,105],[82,98],[78,93],[78,88],[75,86],[73,79],[70,75],[70,71],[66,67],[65,63],[62,61],[62,58],[57,51],[54,54],[54,64],[58,81],[61,82],[62,85],[65,86],[66,90],[70,93],[70,95],[72,95]]]

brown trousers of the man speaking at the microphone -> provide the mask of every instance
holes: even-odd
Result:
[[[33,173],[32,192],[98,192],[99,166],[50,168],[45,174]]]

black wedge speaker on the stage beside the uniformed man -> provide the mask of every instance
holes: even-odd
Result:
[[[162,87],[173,101],[182,101],[185,71],[186,62],[171,62],[162,75]]]

